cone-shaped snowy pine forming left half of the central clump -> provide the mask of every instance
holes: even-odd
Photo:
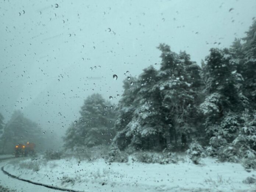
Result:
[[[125,146],[124,137],[126,146],[135,150],[162,150],[166,147],[166,126],[160,113],[161,95],[157,85],[158,78],[158,72],[152,66],[144,69],[139,76],[136,82],[136,97],[133,103],[128,103],[134,110],[131,119],[114,139],[121,149]]]

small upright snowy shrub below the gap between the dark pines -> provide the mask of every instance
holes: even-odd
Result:
[[[201,154],[203,153],[203,147],[196,141],[192,141],[189,145],[189,149],[186,150],[186,154],[193,163],[199,164]]]

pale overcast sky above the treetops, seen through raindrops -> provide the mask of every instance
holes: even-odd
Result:
[[[256,0],[1,1],[0,113],[19,109],[63,135],[87,96],[117,103],[126,71],[159,64],[159,43],[200,65],[245,36],[255,10]]]

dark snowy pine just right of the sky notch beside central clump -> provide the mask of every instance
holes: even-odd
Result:
[[[218,154],[220,147],[231,143],[238,134],[239,113],[246,102],[240,90],[243,79],[229,50],[211,49],[206,61],[206,97],[200,110],[205,115],[211,154]]]

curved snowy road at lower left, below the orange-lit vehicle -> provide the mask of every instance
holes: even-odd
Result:
[[[22,159],[24,158],[0,159],[0,167],[3,167],[10,162],[20,161]],[[1,186],[10,189],[11,192],[12,190],[16,190],[17,192],[60,192],[59,190],[50,189],[46,188],[45,186],[34,185],[25,181],[11,178],[4,174],[3,171],[0,171],[0,189]]]

